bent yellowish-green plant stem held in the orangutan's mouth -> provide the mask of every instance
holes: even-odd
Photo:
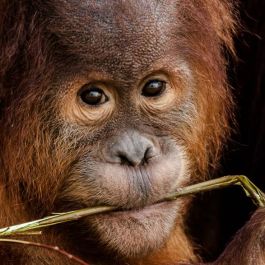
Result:
[[[169,194],[162,201],[172,201],[179,197],[196,194],[199,192],[205,192],[210,190],[222,189],[229,186],[239,185],[243,188],[245,194],[250,197],[254,204],[258,207],[265,206],[265,194],[255,186],[246,176],[236,175],[236,176],[225,176],[202,183],[197,183],[187,187],[179,188],[176,192]],[[117,210],[116,207],[110,206],[99,206],[94,208],[85,208],[76,211],[55,213],[51,216],[45,217],[43,219],[13,225],[0,229],[0,236],[12,236],[12,235],[27,235],[32,234],[32,231],[40,230],[41,228],[65,223],[69,221],[75,221],[85,216],[105,213],[109,211]]]

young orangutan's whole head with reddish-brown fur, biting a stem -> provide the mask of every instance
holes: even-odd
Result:
[[[213,172],[229,135],[230,3],[36,0],[1,10],[0,226],[110,205],[118,211],[39,239],[93,265],[195,261],[189,199],[158,202]],[[42,249],[2,256],[70,264]]]

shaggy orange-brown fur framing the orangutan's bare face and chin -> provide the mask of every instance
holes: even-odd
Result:
[[[79,134],[73,135],[71,130],[74,126],[67,127],[67,122],[61,116],[58,118],[60,104],[55,98],[64,98],[56,90],[56,87],[62,89],[63,86],[56,84],[60,81],[57,73],[65,69],[65,65],[78,65],[84,59],[86,44],[82,41],[86,36],[80,40],[82,32],[79,32],[79,28],[86,28],[89,21],[82,17],[82,12],[82,23],[78,20],[81,24],[73,20],[76,16],[69,13],[75,11],[76,5],[71,7],[71,1],[63,1],[64,5],[51,0],[44,2],[4,0],[0,3],[0,226],[41,218],[56,209],[58,197],[64,196],[64,181],[69,169],[86,151],[85,148],[82,149],[84,143],[79,143],[78,140],[83,139],[82,136],[88,131],[82,128],[78,131]],[[178,127],[174,127],[174,130],[171,128],[171,135],[185,146],[189,156],[189,183],[213,172],[229,137],[233,100],[226,80],[226,52],[229,50],[234,53],[232,35],[236,23],[233,19],[232,1],[169,2],[177,10],[176,22],[172,23],[177,38],[171,48],[187,60],[193,73],[192,82],[196,84],[196,92],[190,102],[192,106],[188,109],[193,116],[180,117],[182,122],[176,123]],[[132,2],[131,5],[135,3]],[[96,12],[96,4],[91,5]],[[126,18],[133,16],[130,4],[123,3],[121,6],[124,14],[127,14]],[[107,8],[106,14],[108,12]],[[126,20],[124,22],[121,18],[118,19],[121,21],[119,30],[122,32],[126,27]],[[96,33],[96,30],[95,27],[92,32]],[[148,35],[148,30],[153,34],[153,29],[147,28],[147,32],[142,32],[139,39]],[[103,44],[107,45],[107,42]],[[129,39],[124,47],[130,45]],[[93,48],[95,53],[96,48]],[[116,47],[112,49],[115,53]],[[61,50],[68,52],[68,56],[61,54]],[[141,57],[143,50],[142,47],[133,47],[130,54]],[[98,56],[100,55],[98,52]],[[94,59],[95,55],[86,56]],[[93,61],[90,57],[89,60]],[[119,65],[120,62],[114,62],[111,68]],[[133,69],[128,69],[126,74],[133,76]],[[117,76],[119,74],[117,71]],[[124,87],[126,84],[123,83]],[[70,102],[67,103],[70,105]],[[123,122],[131,125],[130,121],[137,115],[138,113],[130,113],[130,117]],[[122,118],[125,119],[125,115]],[[113,124],[118,120],[117,118]],[[137,122],[138,120],[135,124]],[[159,126],[164,129],[176,124]],[[110,126],[108,133],[119,130],[122,125],[116,125],[117,128],[114,129]],[[62,128],[67,132],[65,135],[60,134]],[[80,185],[71,194],[80,195],[82,192]],[[130,259],[129,264],[171,265],[178,261],[195,261],[197,257],[193,253],[192,243],[185,235],[185,225],[182,224],[188,209],[188,204],[185,204],[183,216],[162,247],[144,258]],[[71,237],[65,238],[62,234],[48,231],[39,240],[58,244],[77,255],[84,253],[79,246],[71,243]],[[87,252],[88,254],[83,255],[84,259],[90,260],[89,250]],[[46,250],[24,250],[17,247],[11,247],[7,252],[1,251],[0,255],[4,259],[2,264],[50,262],[60,265],[69,262]],[[116,263],[122,264],[122,261]]]

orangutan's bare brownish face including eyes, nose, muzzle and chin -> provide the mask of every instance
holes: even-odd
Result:
[[[60,114],[66,127],[62,134],[80,135],[85,150],[66,176],[58,200],[119,207],[121,212],[87,218],[87,225],[123,257],[146,255],[163,245],[180,218],[181,200],[154,204],[189,181],[181,135],[173,137],[170,132],[183,118],[192,120],[196,111],[188,109],[193,96],[191,70],[172,47],[169,25],[175,16],[163,4],[155,7],[154,2],[146,2],[145,10],[139,3],[130,4],[131,18],[126,12],[119,16],[122,5],[86,4],[83,15],[90,26],[69,37],[70,42],[83,40],[82,47],[75,48],[83,51],[84,73],[70,73],[69,80],[59,81],[63,83]],[[97,19],[105,8],[110,8],[107,24]],[[82,16],[73,16],[81,24]],[[92,25],[97,27],[95,34]],[[102,97],[98,104],[85,102],[89,91]],[[175,115],[178,111],[187,117]],[[71,131],[68,124],[74,127]]]

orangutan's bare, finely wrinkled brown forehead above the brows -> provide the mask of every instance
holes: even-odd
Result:
[[[177,24],[177,1],[58,0],[51,30],[71,52],[99,62],[163,56]],[[133,58],[132,58],[133,57]]]

